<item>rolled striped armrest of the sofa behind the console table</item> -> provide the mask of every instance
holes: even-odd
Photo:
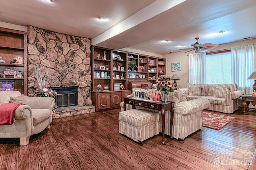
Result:
[[[182,115],[190,115],[197,111],[206,109],[210,106],[210,102],[205,98],[198,98],[194,100],[188,100],[185,102],[180,102],[174,108],[174,114],[180,113]]]

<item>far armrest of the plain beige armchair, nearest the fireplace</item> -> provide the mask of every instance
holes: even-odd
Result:
[[[55,105],[55,99],[54,98],[44,98],[44,97],[29,97],[24,96],[25,100],[28,104],[28,106],[31,107],[31,109],[50,109],[52,110],[52,107]]]

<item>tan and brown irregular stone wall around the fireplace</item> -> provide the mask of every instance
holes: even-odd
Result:
[[[46,85],[51,88],[77,87],[75,102],[83,106],[90,93],[92,80],[90,39],[29,26],[28,96],[33,96],[34,90],[38,88],[36,65],[39,65],[43,76],[48,76]],[[72,95],[66,97],[73,98]]]

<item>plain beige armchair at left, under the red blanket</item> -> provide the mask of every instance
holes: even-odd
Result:
[[[21,96],[18,91],[1,91],[0,104],[9,103],[10,97]],[[0,138],[20,138],[20,145],[29,143],[31,135],[50,128],[54,98],[36,98],[24,96],[27,105],[20,105],[14,112],[12,125],[0,126]]]

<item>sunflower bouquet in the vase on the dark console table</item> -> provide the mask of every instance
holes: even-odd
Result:
[[[161,94],[169,94],[173,92],[171,78],[166,75],[161,75],[156,79],[156,88],[161,91]]]

